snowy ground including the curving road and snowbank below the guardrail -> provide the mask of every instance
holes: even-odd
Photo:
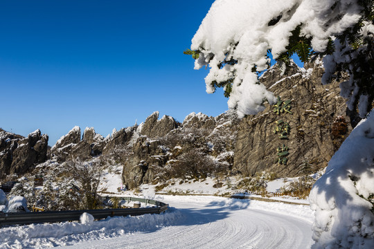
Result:
[[[0,248],[310,248],[308,206],[216,196],[155,196],[165,214],[1,228]]]

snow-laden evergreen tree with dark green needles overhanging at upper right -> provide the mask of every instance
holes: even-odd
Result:
[[[316,57],[325,57],[323,83],[339,80],[341,73],[348,73],[350,80],[341,84],[341,95],[348,98],[348,108],[359,111],[361,117],[372,109],[373,0],[328,0],[319,3],[320,6],[316,1],[295,0],[290,9],[276,1],[276,7],[272,6],[271,9],[278,6],[279,14],[264,13],[262,19],[267,18],[267,22],[253,19],[253,24],[248,23],[247,17],[251,12],[245,9],[250,8],[251,3],[217,2],[220,4],[213,4],[211,15],[206,16],[193,38],[193,49],[184,53],[196,60],[195,68],[211,67],[205,78],[206,91],[213,93],[216,88],[223,87],[224,95],[230,98],[229,107],[238,109],[240,116],[262,111],[265,101],[274,101],[274,96],[248,73],[252,71],[259,75],[269,68],[271,54],[286,69],[294,54],[304,63]],[[242,8],[238,8],[240,4]],[[240,17],[230,13],[230,5],[238,5],[233,9],[242,11],[238,15]],[[309,10],[313,15],[303,17],[299,9],[300,13]],[[224,10],[227,16],[220,17]],[[234,18],[233,24],[223,24],[222,18],[230,18],[230,15]],[[242,23],[238,21],[240,18]],[[284,27],[283,33],[281,27]],[[285,43],[285,40],[288,42]]]

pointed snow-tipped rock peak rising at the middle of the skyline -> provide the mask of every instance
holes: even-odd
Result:
[[[165,136],[172,129],[178,127],[177,121],[170,116],[164,115],[159,119],[159,112],[155,111],[150,115],[141,127],[141,135],[148,136],[148,138],[158,138]]]

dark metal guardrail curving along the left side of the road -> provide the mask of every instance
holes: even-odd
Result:
[[[168,210],[168,204],[160,201],[141,199],[135,197],[121,198],[125,201],[140,201],[145,204],[157,205],[157,208],[117,208],[106,210],[71,210],[71,211],[47,211],[47,212],[26,212],[26,213],[1,213],[0,226],[13,224],[30,224],[44,222],[61,222],[61,221],[79,221],[80,216],[87,212],[94,216],[95,219],[105,219],[108,216],[127,216],[142,214],[161,214]]]

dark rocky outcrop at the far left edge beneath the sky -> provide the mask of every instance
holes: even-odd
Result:
[[[44,163],[48,149],[48,135],[40,130],[24,138],[0,131],[0,176],[24,174],[33,165]]]

